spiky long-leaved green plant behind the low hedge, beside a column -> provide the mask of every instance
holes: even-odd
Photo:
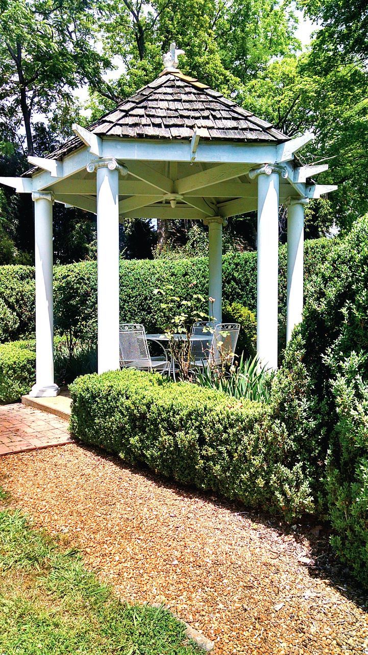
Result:
[[[246,398],[256,402],[269,402],[271,393],[271,374],[260,367],[256,357],[244,360],[242,354],[239,364],[232,366],[224,375],[218,367],[197,368],[195,382],[200,386],[217,389],[233,398]]]

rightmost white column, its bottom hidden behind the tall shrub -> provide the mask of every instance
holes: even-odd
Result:
[[[292,331],[301,322],[303,313],[304,206],[307,202],[307,198],[297,198],[288,204],[286,341],[290,341]]]

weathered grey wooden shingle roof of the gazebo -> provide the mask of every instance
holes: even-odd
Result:
[[[218,91],[172,69],[163,71],[88,129],[102,137],[188,140],[196,128],[201,130],[201,139],[208,140],[282,143],[289,139]],[[62,159],[82,145],[80,138],[73,137],[48,158]]]

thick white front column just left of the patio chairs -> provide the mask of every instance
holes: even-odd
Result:
[[[120,368],[119,356],[119,166],[96,160],[97,170],[97,367]]]

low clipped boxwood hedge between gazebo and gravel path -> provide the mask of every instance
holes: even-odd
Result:
[[[126,462],[286,517],[312,510],[307,478],[267,405],[124,369],[71,385],[71,432]]]

